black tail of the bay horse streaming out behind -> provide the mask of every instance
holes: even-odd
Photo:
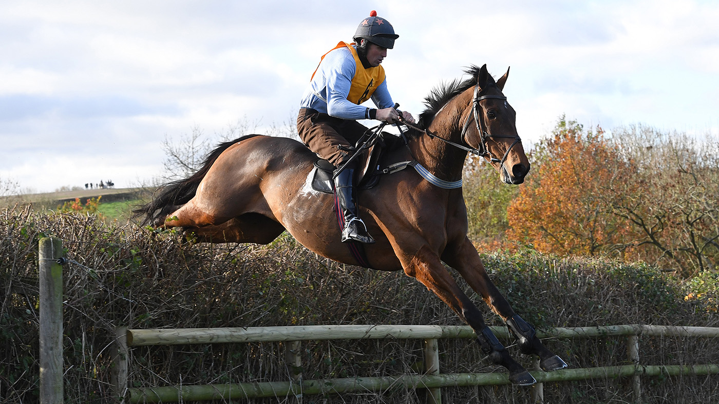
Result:
[[[255,136],[260,135],[242,136],[234,141],[226,141],[219,144],[216,149],[205,156],[201,169],[186,179],[178,179],[177,181],[168,182],[159,187],[155,191],[155,194],[152,195],[152,201],[133,210],[132,217],[142,217],[140,224],[143,226],[164,220],[176,207],[186,204],[195,196],[200,182],[223,151],[229,149],[230,146],[237,142]]]

